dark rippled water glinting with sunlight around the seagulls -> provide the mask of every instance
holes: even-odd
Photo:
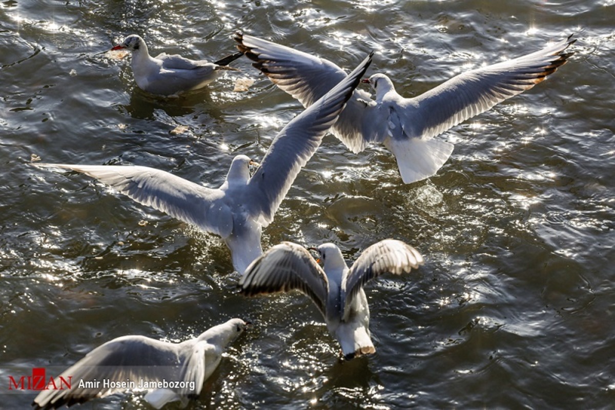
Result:
[[[615,2],[64,1],[0,3],[0,393],[9,375],[69,366],[124,334],[180,341],[231,317],[234,342],[193,408],[612,408],[615,401]],[[152,52],[219,58],[236,30],[417,95],[453,74],[575,33],[554,76],[454,127],[453,156],[403,185],[381,146],[327,136],[263,247],[387,237],[426,264],[371,283],[377,353],[346,363],[308,299],[236,294],[213,235],[92,179],[31,159],[159,167],[218,186],[262,157],[301,107],[247,59],[209,90],[164,100],[97,52],[142,34]],[[255,79],[233,92],[237,78]],[[171,133],[178,125],[185,133]],[[148,408],[114,395],[85,408]]]

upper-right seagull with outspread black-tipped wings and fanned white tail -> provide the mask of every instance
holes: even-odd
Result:
[[[453,144],[433,139],[495,104],[529,90],[566,63],[572,36],[537,52],[466,71],[418,97],[404,98],[385,74],[374,74],[375,100],[357,89],[331,132],[357,154],[370,143],[383,143],[397,159],[402,180],[429,178],[444,165]],[[254,60],[280,89],[309,107],[346,75],[324,58],[238,33],[237,48]]]

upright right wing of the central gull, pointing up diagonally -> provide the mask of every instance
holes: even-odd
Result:
[[[271,223],[295,177],[319,147],[323,136],[359,84],[372,53],[338,85],[296,116],[274,138],[260,167],[248,182],[252,215],[263,226]]]

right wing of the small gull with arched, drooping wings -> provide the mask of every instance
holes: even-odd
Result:
[[[344,317],[346,308],[363,288],[365,283],[380,275],[391,272],[395,275],[408,273],[423,264],[423,256],[412,246],[395,239],[381,240],[369,246],[352,264],[342,283],[342,302]]]

